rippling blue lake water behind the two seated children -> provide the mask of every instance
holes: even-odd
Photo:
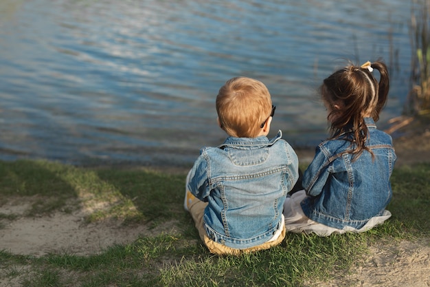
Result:
[[[380,127],[409,90],[405,0],[1,0],[0,159],[188,164],[225,134],[215,97],[257,78],[277,106],[270,136],[326,138],[316,89],[346,64],[383,58]]]

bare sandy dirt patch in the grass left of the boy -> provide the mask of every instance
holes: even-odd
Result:
[[[18,215],[18,218],[1,222],[0,250],[36,256],[59,252],[90,255],[100,253],[113,244],[131,243],[139,235],[177,232],[177,222],[167,222],[151,229],[145,224],[124,225],[118,220],[88,224],[84,222],[83,211],[26,217],[23,215],[32,202],[31,198],[27,202],[22,200],[1,206],[1,213]]]

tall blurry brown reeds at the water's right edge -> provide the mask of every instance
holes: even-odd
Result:
[[[430,0],[411,3],[411,92],[408,114],[430,112]]]

